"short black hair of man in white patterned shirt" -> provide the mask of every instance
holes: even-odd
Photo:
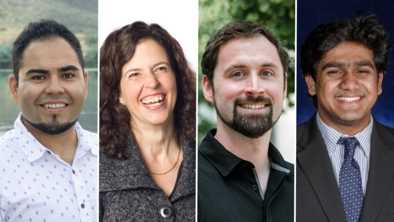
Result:
[[[82,55],[81,44],[75,35],[63,24],[53,20],[41,20],[40,22],[29,23],[28,26],[18,35],[12,48],[12,64],[14,76],[18,81],[18,72],[23,62],[23,53],[26,47],[34,40],[44,40],[54,37],[65,39],[74,49],[82,69],[84,69],[84,57]]]

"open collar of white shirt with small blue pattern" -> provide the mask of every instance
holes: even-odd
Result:
[[[14,129],[10,131],[11,140],[16,141],[29,162],[40,159],[45,152],[49,151],[27,130],[21,120],[22,113],[14,122]],[[83,156],[87,151],[91,150],[93,155],[97,155],[97,136],[93,133],[84,131],[80,123],[75,123],[75,131],[78,138],[75,157]],[[51,152],[51,151],[49,151]]]

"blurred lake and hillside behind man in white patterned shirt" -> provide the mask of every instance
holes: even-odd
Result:
[[[97,0],[0,0],[0,136],[13,128],[21,112],[8,88],[12,44],[29,22],[44,18],[64,24],[81,42],[89,85],[78,121],[85,130],[97,133],[97,7]]]

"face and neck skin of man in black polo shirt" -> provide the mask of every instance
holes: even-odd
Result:
[[[223,44],[214,69],[213,86],[206,76],[203,77],[204,97],[216,108],[218,129],[215,138],[229,152],[254,164],[263,192],[270,171],[271,127],[279,119],[286,97],[285,77],[277,49],[263,35],[232,39]],[[245,105],[254,105],[254,108]],[[257,105],[260,108],[256,108]],[[241,128],[234,129],[228,124],[237,113],[245,120],[246,127],[259,131],[259,124],[264,123],[270,112],[272,121],[261,135],[244,135]]]

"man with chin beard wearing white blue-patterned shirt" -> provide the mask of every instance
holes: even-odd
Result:
[[[77,122],[88,85],[80,43],[55,21],[30,23],[12,62],[22,113],[0,139],[0,220],[96,221],[97,136]]]

